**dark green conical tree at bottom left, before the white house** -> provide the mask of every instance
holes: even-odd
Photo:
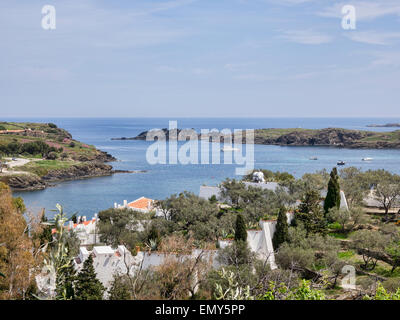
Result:
[[[77,300],[102,300],[105,288],[96,278],[93,257],[90,255],[83,263],[83,268],[76,277],[75,298]]]

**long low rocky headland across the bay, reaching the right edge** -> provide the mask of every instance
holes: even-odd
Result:
[[[168,129],[160,129],[169,139]],[[180,129],[174,129],[175,134],[182,133]],[[187,130],[187,129],[184,129]],[[114,140],[146,140],[147,133],[144,131],[132,138],[114,138]],[[188,130],[188,132],[192,132]],[[160,132],[161,133],[161,132]],[[197,134],[202,138],[200,134]],[[183,132],[182,140],[186,140]],[[242,134],[243,143],[245,141],[245,132]],[[224,137],[218,134],[222,142]],[[204,139],[204,137],[203,137]],[[207,139],[207,137],[206,137]],[[209,138],[212,139],[211,137]],[[342,148],[365,148],[365,149],[399,149],[400,148],[400,130],[392,132],[374,132],[364,130],[349,130],[341,128],[326,129],[256,129],[254,130],[254,143],[279,146],[332,146]]]

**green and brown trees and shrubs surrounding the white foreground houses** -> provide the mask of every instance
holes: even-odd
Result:
[[[64,227],[68,219],[62,207],[57,206],[54,219],[48,220],[41,212],[34,223],[24,218],[29,210],[23,201],[13,198],[2,184],[0,297],[41,297],[34,276],[45,269],[55,274],[56,292],[51,298],[62,300],[322,300],[338,296],[396,300],[400,288],[400,224],[393,210],[398,206],[397,178],[381,170],[346,168],[338,173],[333,169],[330,175],[320,171],[300,179],[281,179],[275,191],[227,179],[221,183],[224,203],[183,192],[157,201],[162,213],[157,216],[104,210],[99,213],[97,230],[103,244],[125,245],[132,255],[140,249],[167,256],[151,268],[132,262],[127,268],[135,272],[116,273],[107,291],[96,277],[91,256],[83,267],[76,267],[73,258],[79,240]],[[339,185],[349,190],[349,210],[338,205]],[[327,190],[327,211],[322,207],[322,190]],[[365,207],[365,197],[382,203],[383,210]],[[290,224],[287,212],[294,212]],[[248,246],[248,230],[258,229],[260,219],[276,220],[272,240],[278,268],[274,270],[268,256]],[[235,241],[219,248],[221,239]],[[213,268],[214,259],[217,268]],[[357,290],[345,291],[343,270],[350,267],[356,272]]]

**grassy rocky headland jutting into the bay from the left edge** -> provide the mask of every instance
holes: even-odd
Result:
[[[0,122],[0,156],[0,181],[14,190],[120,172],[107,164],[116,161],[112,155],[52,123]]]

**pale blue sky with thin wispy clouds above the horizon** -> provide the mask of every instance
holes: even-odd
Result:
[[[0,1],[0,117],[399,117],[399,80],[399,0]]]

